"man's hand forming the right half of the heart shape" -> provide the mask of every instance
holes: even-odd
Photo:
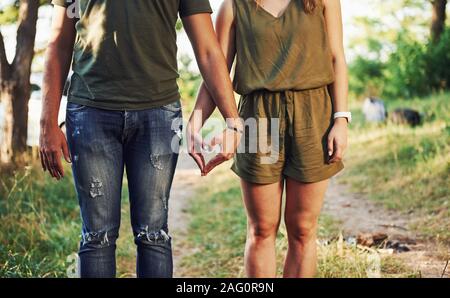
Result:
[[[212,151],[220,147],[220,152],[213,157],[204,168],[204,175],[208,175],[215,167],[233,158],[242,138],[242,132],[226,128],[220,135],[209,143]]]

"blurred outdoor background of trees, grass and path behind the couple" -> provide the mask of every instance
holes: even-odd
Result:
[[[0,0],[0,277],[77,274],[80,220],[70,166],[66,178],[52,181],[37,154],[49,2]],[[217,11],[221,1],[210,2]],[[355,120],[346,170],[332,181],[321,217],[318,276],[448,277],[450,5],[341,3]],[[201,77],[181,23],[178,31],[188,117]],[[64,96],[60,123],[65,104]],[[200,178],[181,156],[170,215],[176,276],[243,276],[245,213],[228,168]],[[124,187],[121,277],[134,276],[128,209]],[[285,234],[281,226],[280,260]]]

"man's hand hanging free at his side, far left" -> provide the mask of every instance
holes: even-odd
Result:
[[[57,125],[42,125],[39,144],[42,168],[49,171],[53,178],[60,180],[64,177],[61,157],[64,156],[68,163],[71,162],[66,136]]]

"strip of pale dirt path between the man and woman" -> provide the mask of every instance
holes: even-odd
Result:
[[[189,225],[186,207],[200,180],[200,171],[192,158],[186,153],[180,154],[169,202],[169,227],[173,238],[174,277],[181,277],[182,275],[180,261],[186,254],[182,239],[187,236]]]

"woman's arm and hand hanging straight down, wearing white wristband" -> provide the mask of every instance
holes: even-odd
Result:
[[[348,111],[348,72],[343,45],[342,13],[340,0],[323,0],[327,33],[333,57],[335,81],[331,86],[334,112]],[[342,159],[347,147],[347,119],[335,120],[328,137],[328,153],[330,162]]]

